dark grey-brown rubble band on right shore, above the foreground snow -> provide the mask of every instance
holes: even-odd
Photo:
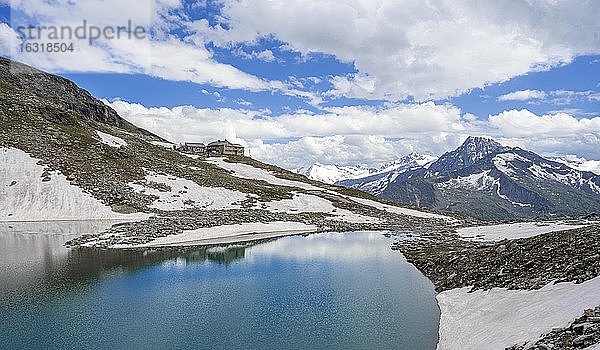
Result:
[[[551,282],[600,276],[600,226],[499,242],[458,239],[452,231],[400,240],[398,249],[438,292],[472,286],[539,289]]]

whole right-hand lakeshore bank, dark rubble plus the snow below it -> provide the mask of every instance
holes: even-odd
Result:
[[[453,230],[399,237],[392,248],[439,293],[438,349],[600,345],[600,226],[571,224],[587,226],[501,241]]]

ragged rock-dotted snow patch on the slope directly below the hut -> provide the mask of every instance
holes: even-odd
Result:
[[[146,184],[129,183],[134,191],[157,196],[151,208],[174,211],[192,208],[207,210],[238,209],[237,203],[247,199],[245,193],[223,187],[204,187],[194,181],[149,172]],[[167,186],[170,190],[152,187],[152,183]]]

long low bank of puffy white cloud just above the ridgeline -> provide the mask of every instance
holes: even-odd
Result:
[[[491,136],[540,154],[600,159],[600,117],[509,110],[479,120],[452,105],[433,102],[332,107],[324,114],[298,110],[278,116],[249,109],[105,102],[125,119],[171,141],[228,138],[246,145],[253,157],[286,168],[315,162],[374,165],[409,152],[439,155],[467,135]]]

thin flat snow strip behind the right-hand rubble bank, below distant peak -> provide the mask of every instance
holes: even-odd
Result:
[[[459,236],[473,241],[501,241],[503,239],[528,238],[550,232],[572,230],[586,227],[585,224],[568,224],[564,221],[555,222],[519,222],[490,226],[475,226],[460,228]]]

